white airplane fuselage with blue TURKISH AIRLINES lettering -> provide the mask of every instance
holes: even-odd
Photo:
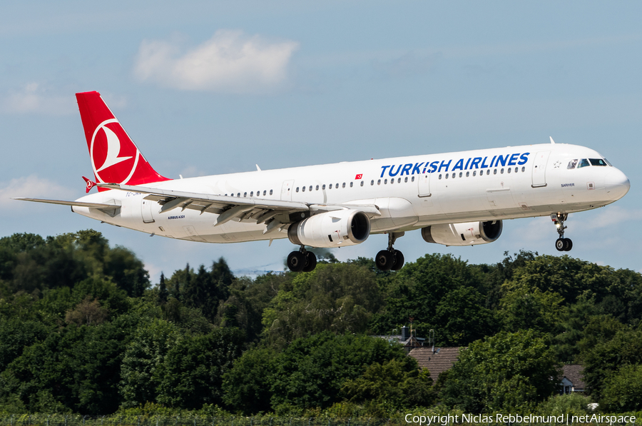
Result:
[[[603,157],[582,146],[551,143],[185,178],[148,186],[309,204],[375,205],[381,215],[371,218],[371,233],[386,233],[439,223],[586,211],[626,194],[628,178],[613,166],[568,168],[570,161],[584,158]],[[149,200],[143,204],[145,197],[102,191],[78,201],[116,203],[121,206],[118,214],[112,217],[76,206],[73,211],[145,233],[208,243],[287,238],[287,229],[264,234],[265,223],[251,218],[215,225],[214,213],[190,209],[159,213],[161,206]]]

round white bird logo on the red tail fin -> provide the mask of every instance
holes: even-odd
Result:
[[[107,127],[109,123],[116,123],[116,126],[109,128]],[[125,131],[116,118],[111,118],[100,123],[96,127],[96,130],[93,131],[93,136],[91,136],[91,146],[89,148],[91,166],[93,173],[96,175],[96,180],[101,183],[127,183],[134,171],[136,171],[138,158],[141,155],[133,143],[126,143],[125,146],[122,146],[121,138],[118,137],[118,134],[114,130],[118,133],[122,132],[124,134],[123,136],[126,136]],[[126,137],[128,138],[128,136]],[[123,155],[121,156],[121,154]],[[131,158],[135,159],[128,161],[128,163],[123,163],[123,161],[131,160]],[[99,163],[101,166],[97,167],[96,163]],[[116,168],[113,167],[120,163],[123,164]],[[129,171],[126,170],[127,168],[129,168]],[[116,176],[120,176],[121,178],[126,176],[126,178],[121,182],[117,182],[119,179],[114,179]]]

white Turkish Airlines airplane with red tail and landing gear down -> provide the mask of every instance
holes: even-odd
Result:
[[[16,198],[151,235],[204,243],[288,238],[294,272],[310,272],[310,248],[363,243],[387,234],[375,263],[399,270],[397,238],[421,230],[427,243],[477,245],[503,221],[550,216],[559,251],[569,213],[611,204],[631,183],[601,154],[551,143],[371,159],[320,166],[170,179],[156,172],[96,91],[76,93],[95,181],[76,201]]]

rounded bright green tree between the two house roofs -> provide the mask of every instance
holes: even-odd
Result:
[[[449,406],[467,412],[533,410],[556,390],[559,365],[545,335],[501,332],[459,354],[442,389]]]

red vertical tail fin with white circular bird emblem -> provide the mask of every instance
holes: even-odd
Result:
[[[96,182],[141,185],[170,180],[150,166],[100,93],[76,93],[76,99]]]

